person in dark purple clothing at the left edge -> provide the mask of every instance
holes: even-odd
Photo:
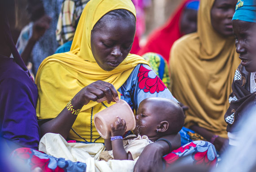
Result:
[[[9,28],[5,9],[14,1],[0,3],[0,136],[9,151],[17,147],[38,149],[39,126],[36,119],[36,85],[20,57]],[[11,10],[10,10],[11,11]],[[9,58],[10,54],[13,58]],[[7,150],[6,150],[7,151]]]

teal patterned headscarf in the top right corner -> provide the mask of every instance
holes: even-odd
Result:
[[[232,20],[256,23],[256,0],[238,0]]]

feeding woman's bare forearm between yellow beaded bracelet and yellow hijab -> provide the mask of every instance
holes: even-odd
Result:
[[[40,126],[41,137],[48,132],[58,133],[65,139],[70,132],[77,115],[71,114],[65,107],[62,112],[54,119],[42,124]]]

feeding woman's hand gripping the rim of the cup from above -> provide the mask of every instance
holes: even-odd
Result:
[[[87,105],[89,101],[119,101],[118,93],[115,87],[102,80],[98,80],[79,91],[72,99],[72,105],[75,109],[81,109],[84,105]]]

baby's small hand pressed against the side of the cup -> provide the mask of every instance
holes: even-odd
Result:
[[[117,120],[114,123],[110,124],[112,137],[123,136],[127,129],[125,120],[119,118],[118,116],[116,118]]]

